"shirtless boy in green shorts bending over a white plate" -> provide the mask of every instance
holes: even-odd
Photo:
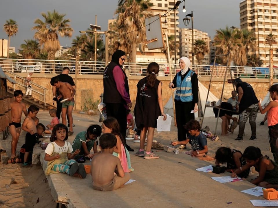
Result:
[[[67,82],[61,82],[59,77],[55,77],[53,82],[51,81],[50,84],[56,88],[58,88],[60,94],[62,95],[63,99],[68,98],[62,105],[62,123],[67,125],[66,115],[69,118],[69,132],[68,135],[73,134],[72,129],[72,109],[74,107],[74,95],[75,89]]]

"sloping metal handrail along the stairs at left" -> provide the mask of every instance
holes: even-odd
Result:
[[[16,84],[12,84],[7,82],[7,86],[11,87],[14,90],[21,90],[23,92],[23,94],[25,94],[27,86],[26,86],[26,81],[27,79],[16,75],[15,73],[12,73],[10,71],[7,71],[5,69],[3,69],[3,71],[6,73],[7,76],[11,77],[12,79],[14,79],[14,81],[16,81]],[[43,103],[44,106],[46,106],[46,88],[32,82],[29,81],[32,85],[32,96]]]

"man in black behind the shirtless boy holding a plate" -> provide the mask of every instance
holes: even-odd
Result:
[[[69,74],[69,68],[67,66],[65,66],[63,68],[62,73],[57,75],[56,77],[59,77],[59,80],[62,81],[62,82],[69,83],[75,89],[75,83],[74,83],[72,77],[69,76],[68,74]],[[52,79],[55,79],[55,77],[52,77]],[[56,87],[54,87],[54,86],[52,86],[52,93],[53,93],[54,98],[56,98],[56,103],[57,103],[56,116],[60,120],[61,111],[62,111],[62,104],[63,104],[63,103],[60,103],[60,101],[62,99],[61,99],[59,90]],[[69,120],[69,118],[67,118],[67,120]]]

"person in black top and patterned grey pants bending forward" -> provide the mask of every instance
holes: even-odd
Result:
[[[256,139],[256,118],[259,109],[259,101],[252,86],[247,82],[243,82],[241,79],[236,78],[233,80],[233,85],[236,86],[237,89],[238,98],[236,109],[240,113],[239,130],[235,140],[243,140],[242,136],[244,133],[245,123],[248,118],[252,132],[250,140],[254,140]]]

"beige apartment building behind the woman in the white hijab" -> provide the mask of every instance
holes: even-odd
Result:
[[[189,58],[189,60],[192,63],[192,30],[187,28],[180,29],[180,55],[186,56]],[[207,47],[209,49],[209,42],[210,38],[206,32],[193,29],[193,40],[204,40],[207,44]],[[202,60],[202,63],[198,63],[198,60],[196,58],[196,54],[194,56],[194,64],[203,64],[208,65],[210,63],[210,53],[208,51],[207,54],[205,54],[204,59]]]

